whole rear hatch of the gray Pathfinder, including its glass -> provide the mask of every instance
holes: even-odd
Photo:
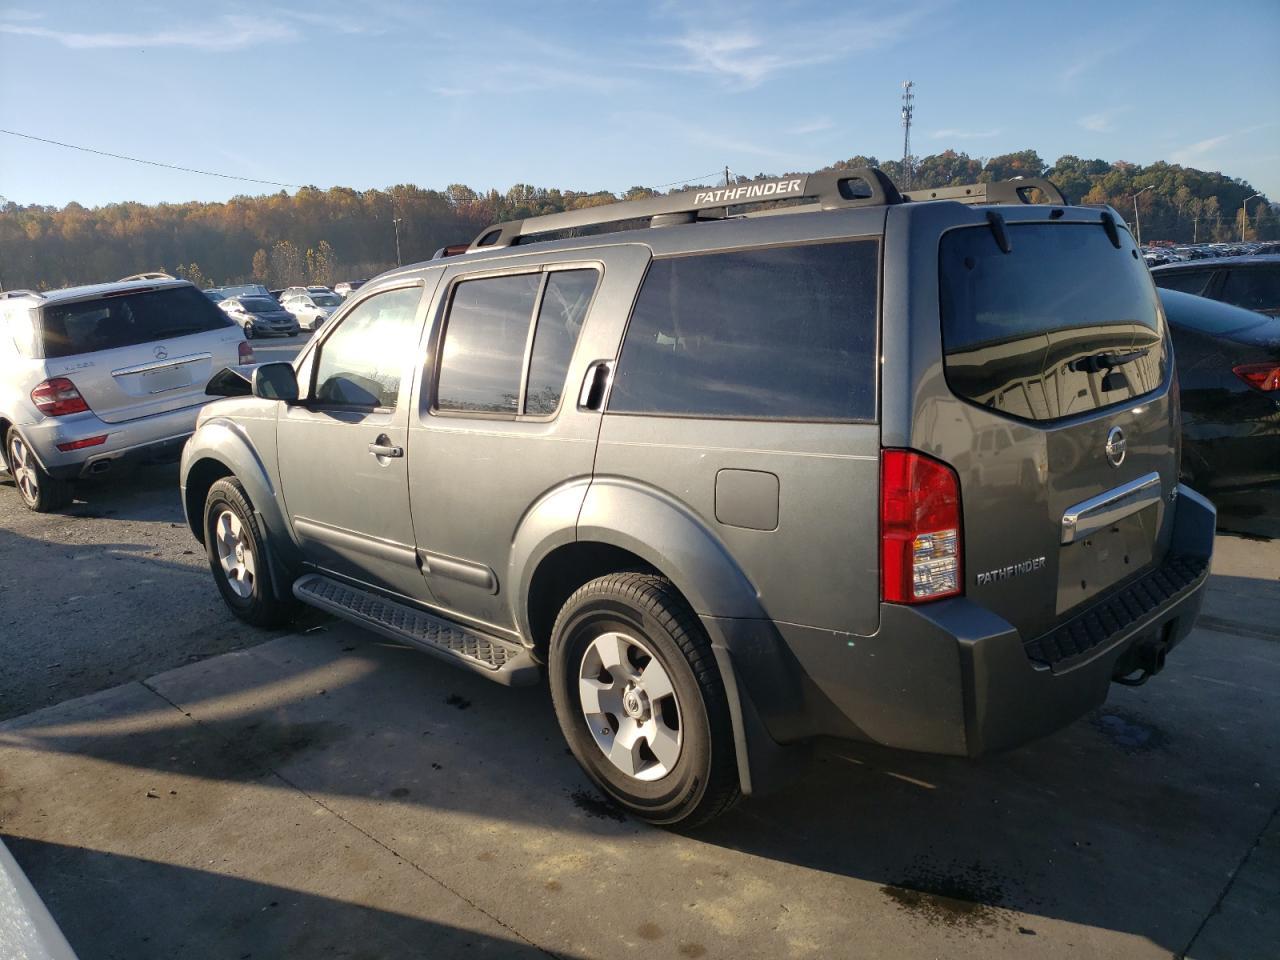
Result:
[[[1108,218],[991,211],[940,242],[950,397],[932,431],[960,479],[965,589],[1028,640],[1167,543],[1171,351],[1147,268]]]

